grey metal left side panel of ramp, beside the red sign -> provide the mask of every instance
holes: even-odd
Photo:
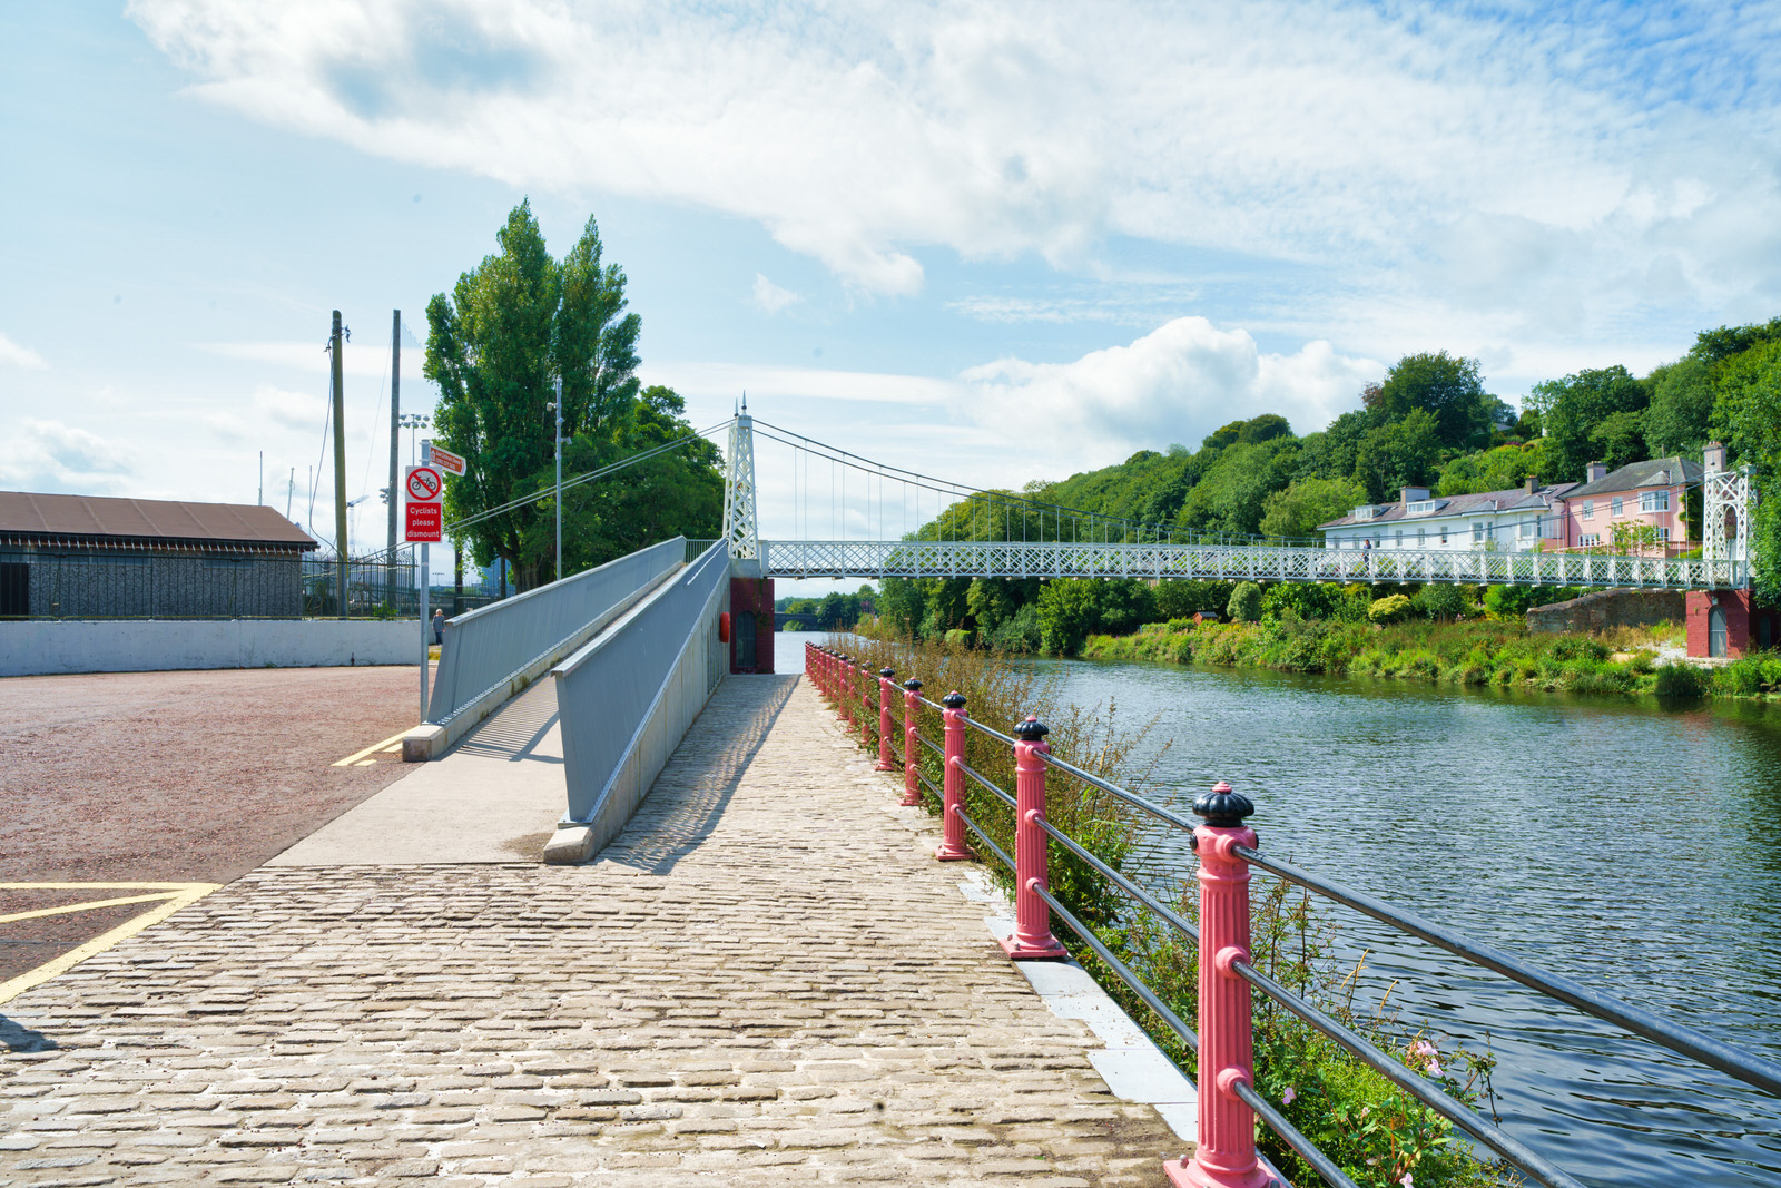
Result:
[[[443,723],[515,673],[568,645],[579,632],[671,572],[684,538],[639,549],[573,577],[527,590],[445,620],[427,718]]]

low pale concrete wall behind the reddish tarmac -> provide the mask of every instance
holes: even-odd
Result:
[[[175,668],[419,664],[413,620],[59,620],[0,623],[0,677]]]

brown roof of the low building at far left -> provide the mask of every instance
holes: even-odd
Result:
[[[0,538],[66,543],[240,545],[310,550],[317,543],[271,508],[109,495],[0,492]]]

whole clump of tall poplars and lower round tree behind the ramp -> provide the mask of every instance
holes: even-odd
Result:
[[[427,303],[424,374],[440,388],[433,424],[440,443],[468,463],[447,484],[447,520],[550,484],[550,403],[559,378],[563,431],[572,438],[566,472],[689,433],[673,392],[639,394],[641,322],[625,310],[623,269],[600,258],[593,219],[568,255],[554,260],[531,203],[522,201],[495,242],[499,249],[459,276],[451,296]],[[673,533],[714,534],[714,515],[721,515],[716,465],[714,449],[693,443],[639,463],[636,474],[565,492],[565,572]],[[525,590],[554,575],[552,511],[549,500],[533,500],[467,527],[465,540],[479,563],[504,557]]]

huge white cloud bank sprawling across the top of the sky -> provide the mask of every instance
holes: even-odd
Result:
[[[132,0],[255,119],[753,219],[850,285],[1108,237],[1535,333],[1781,296],[1776,11]],[[1557,319],[1557,321],[1555,321]]]

